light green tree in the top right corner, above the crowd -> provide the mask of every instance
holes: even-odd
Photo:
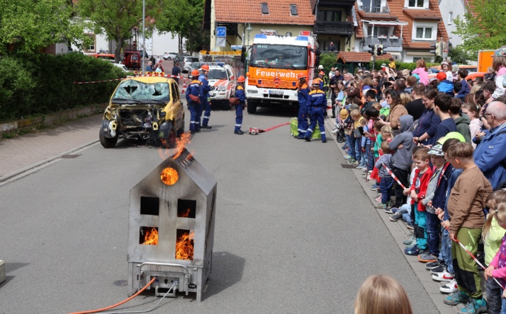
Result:
[[[469,0],[473,13],[454,19],[456,35],[463,40],[464,49],[475,56],[478,50],[497,49],[506,42],[506,6],[504,0]]]

